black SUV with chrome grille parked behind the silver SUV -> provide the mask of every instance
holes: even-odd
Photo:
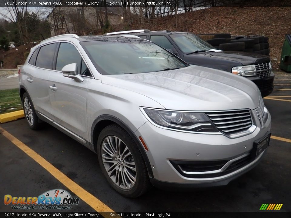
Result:
[[[187,32],[132,30],[105,35],[136,35],[167,49],[189,64],[247,77],[259,87],[262,97],[271,94],[274,88],[274,74],[266,55],[217,50],[198,35]]]

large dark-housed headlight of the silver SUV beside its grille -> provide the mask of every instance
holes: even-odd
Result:
[[[204,113],[141,108],[149,121],[160,127],[191,132],[218,132]]]

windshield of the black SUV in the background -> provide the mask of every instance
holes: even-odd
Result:
[[[204,41],[199,36],[192,33],[171,34],[170,37],[176,43],[176,45],[186,54],[197,50],[208,51],[210,49],[216,49],[208,42]]]

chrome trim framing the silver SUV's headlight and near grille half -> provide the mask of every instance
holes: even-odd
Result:
[[[152,119],[146,114],[146,112],[143,110],[143,108],[147,108],[147,109],[153,109],[153,110],[158,110],[158,111],[173,111],[173,112],[186,112],[186,113],[207,113],[207,112],[229,112],[229,111],[245,111],[245,110],[249,110],[251,118],[252,118],[252,125],[245,131],[239,132],[239,133],[235,133],[235,134],[224,134],[222,132],[195,132],[195,131],[187,131],[187,130],[179,130],[179,129],[172,129],[169,127],[163,127],[160,126],[158,124],[156,124],[155,122],[152,121]],[[177,111],[177,110],[168,110],[168,109],[160,109],[160,108],[151,108],[151,107],[139,107],[140,111],[142,112],[142,114],[146,117],[146,119],[153,124],[156,127],[159,127],[161,129],[165,129],[165,130],[172,130],[172,131],[177,131],[177,132],[184,132],[184,133],[192,133],[192,134],[207,134],[207,135],[223,135],[226,136],[228,138],[238,138],[238,137],[243,137],[249,134],[252,134],[255,129],[257,128],[255,125],[255,121],[254,121],[254,117],[253,117],[253,113],[252,110],[250,109],[238,109],[238,110],[223,110],[223,111]]]

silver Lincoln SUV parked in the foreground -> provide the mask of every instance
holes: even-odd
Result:
[[[52,124],[98,155],[126,197],[156,187],[226,185],[269,145],[271,117],[257,86],[189,65],[131,36],[55,36],[19,72],[28,125]]]

